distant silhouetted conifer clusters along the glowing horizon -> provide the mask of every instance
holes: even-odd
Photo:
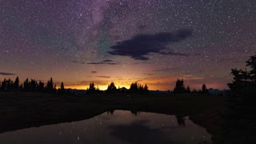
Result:
[[[42,81],[37,81],[35,79],[28,79],[24,82],[20,82],[19,78],[15,78],[12,81],[10,78],[4,79],[0,82],[0,90],[1,91],[40,91],[40,92],[48,92],[48,93],[58,93],[64,94],[68,92],[65,90],[64,83],[61,82],[60,87],[56,88],[56,84],[54,84],[53,78],[50,78],[46,82],[46,84]],[[111,82],[110,85],[107,87],[106,93],[107,94],[115,94],[115,93],[129,93],[129,94],[149,94],[149,87],[147,85],[142,85],[138,82],[133,82],[130,84],[130,89],[126,89],[124,87],[117,88],[114,85],[114,82]],[[98,86],[96,87],[94,82],[90,82],[89,88],[86,90],[86,94],[99,94],[102,93],[102,90],[99,90]],[[173,94],[207,94],[208,90],[206,88],[206,84],[202,85],[202,90],[190,90],[190,86],[184,85],[183,79],[178,79],[174,90],[170,93]]]

